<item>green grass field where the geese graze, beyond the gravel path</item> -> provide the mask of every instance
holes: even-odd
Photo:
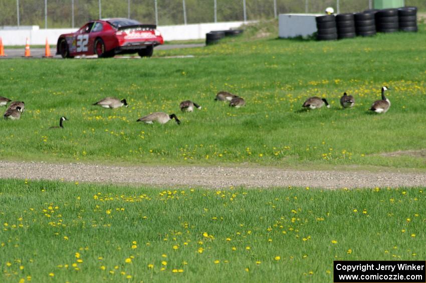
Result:
[[[2,61],[0,95],[26,103],[19,121],[0,121],[1,159],[131,164],[263,164],[425,168],[425,26],[334,42],[241,38],[204,48],[156,51],[142,60]],[[163,58],[194,55],[194,58]],[[390,110],[368,113],[390,88]],[[215,102],[218,91],[247,106]],[[342,110],[343,92],[356,105]],[[129,108],[92,103],[126,98]],[[310,96],[330,109],[300,111]],[[192,100],[202,110],[182,114]],[[151,112],[182,121],[145,125]],[[65,129],[52,131],[66,116]]]

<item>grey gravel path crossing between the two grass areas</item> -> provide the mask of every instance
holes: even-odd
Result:
[[[154,186],[364,188],[426,186],[426,173],[200,166],[107,166],[0,161],[0,178]]]

